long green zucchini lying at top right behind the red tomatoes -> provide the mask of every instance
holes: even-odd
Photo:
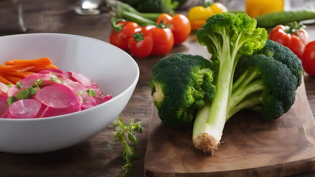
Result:
[[[299,11],[282,11],[268,13],[255,18],[257,26],[263,28],[272,28],[277,25],[285,25],[290,22],[300,22],[303,20],[315,19],[315,11],[299,10]]]

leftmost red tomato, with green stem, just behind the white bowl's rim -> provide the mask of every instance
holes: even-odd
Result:
[[[110,34],[109,41],[111,44],[123,49],[128,49],[128,40],[133,34],[141,31],[141,27],[134,22],[118,22],[117,26],[113,26],[114,30]],[[120,31],[115,28],[122,26]]]

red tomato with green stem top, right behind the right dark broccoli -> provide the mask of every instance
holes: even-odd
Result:
[[[295,31],[297,35],[292,31]],[[308,34],[300,27],[278,25],[269,34],[269,39],[288,47],[297,57],[301,58],[305,45],[308,43]]]

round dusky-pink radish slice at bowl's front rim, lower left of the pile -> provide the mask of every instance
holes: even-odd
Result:
[[[36,117],[41,106],[42,104],[37,100],[25,99],[14,102],[8,110],[16,119],[29,119]]]

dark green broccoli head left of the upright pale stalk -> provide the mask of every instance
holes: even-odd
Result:
[[[167,127],[193,122],[196,110],[215,93],[211,62],[202,56],[177,53],[157,62],[150,81],[153,103]]]

